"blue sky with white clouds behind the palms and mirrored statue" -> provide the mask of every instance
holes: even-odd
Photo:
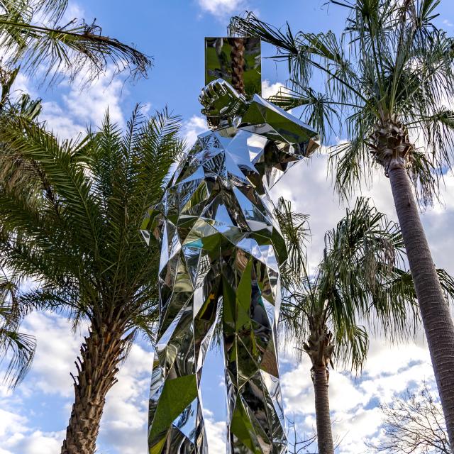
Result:
[[[197,96],[204,84],[204,37],[225,35],[231,14],[253,10],[265,21],[282,26],[289,21],[294,31],[339,31],[343,27],[343,11],[323,7],[324,0],[190,0],[124,1],[77,0],[70,3],[67,18],[79,17],[96,21],[104,34],[153,55],[155,65],[148,79],[134,84],[116,78],[111,71],[81,92],[76,85],[63,81],[57,87],[43,90],[33,80],[22,76],[17,89],[26,89],[42,96],[43,117],[53,131],[72,137],[87,125],[96,126],[109,107],[111,116],[124,124],[135,103],[140,102],[153,112],[168,106],[182,115],[188,141],[204,129]],[[440,26],[454,31],[454,5],[444,0],[439,9]],[[266,46],[264,56],[271,55]],[[272,92],[285,82],[284,65],[272,60],[262,63],[265,89]],[[77,82],[77,81],[76,81]],[[341,140],[342,138],[338,138]],[[311,215],[313,240],[309,258],[316,262],[321,253],[323,233],[343,216],[345,206],[333,194],[331,179],[326,176],[326,157],[314,157],[309,165],[292,168],[273,189],[292,199],[301,212]],[[446,177],[444,205],[428,209],[423,223],[428,233],[436,264],[454,273],[450,258],[454,241],[449,226],[454,221],[454,178]],[[378,209],[395,218],[389,184],[377,177],[376,184],[363,194],[371,195]],[[84,331],[72,333],[63,316],[32,314],[24,328],[35,333],[38,350],[31,373],[16,392],[0,387],[0,454],[57,454],[64,436],[72,403],[74,359]],[[99,453],[145,453],[147,397],[151,353],[143,341],[136,343],[130,358],[123,365],[118,384],[111,390],[101,422]],[[282,389],[287,415],[297,421],[298,430],[311,432],[314,427],[309,364],[297,360],[291,343],[281,353]],[[204,372],[204,404],[211,441],[210,454],[223,451],[223,387],[222,365],[213,351]],[[406,387],[418,387],[423,380],[433,385],[431,366],[423,338],[404,345],[388,345],[382,339],[372,342],[369,360],[362,377],[348,371],[331,373],[331,409],[336,420],[335,433],[343,442],[339,453],[364,452],[363,441],[380,433],[382,423],[379,402],[389,402]]]

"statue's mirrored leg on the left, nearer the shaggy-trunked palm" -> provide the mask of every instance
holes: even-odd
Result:
[[[217,304],[211,296],[216,279],[208,279],[209,285],[203,279],[192,282],[184,256],[172,260],[170,279],[160,273],[162,313],[150,388],[149,454],[208,454],[199,384],[216,324]]]

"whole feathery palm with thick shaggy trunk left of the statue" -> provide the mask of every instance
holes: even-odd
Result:
[[[38,123],[0,123],[0,264],[37,287],[16,295],[23,312],[64,311],[89,332],[76,361],[64,454],[92,454],[109,389],[137,333],[157,320],[159,248],[140,238],[182,150],[179,118],[136,109],[125,133],[107,115],[101,130],[59,141]]]

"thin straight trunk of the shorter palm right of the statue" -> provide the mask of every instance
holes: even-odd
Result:
[[[314,366],[315,413],[319,454],[333,454],[333,433],[329,414],[328,376],[326,367]]]

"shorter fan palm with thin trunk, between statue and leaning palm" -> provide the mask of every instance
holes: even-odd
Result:
[[[291,246],[282,272],[286,288],[282,331],[302,346],[301,355],[309,355],[319,453],[333,454],[329,368],[336,359],[360,372],[370,329],[392,341],[411,336],[418,322],[414,284],[411,274],[399,267],[404,258],[399,226],[367,199],[358,199],[336,228],[326,233],[323,258],[313,275],[307,272],[301,244],[306,230],[301,215],[282,199],[277,214]],[[443,270],[440,275],[446,292],[454,295],[453,279]]]

